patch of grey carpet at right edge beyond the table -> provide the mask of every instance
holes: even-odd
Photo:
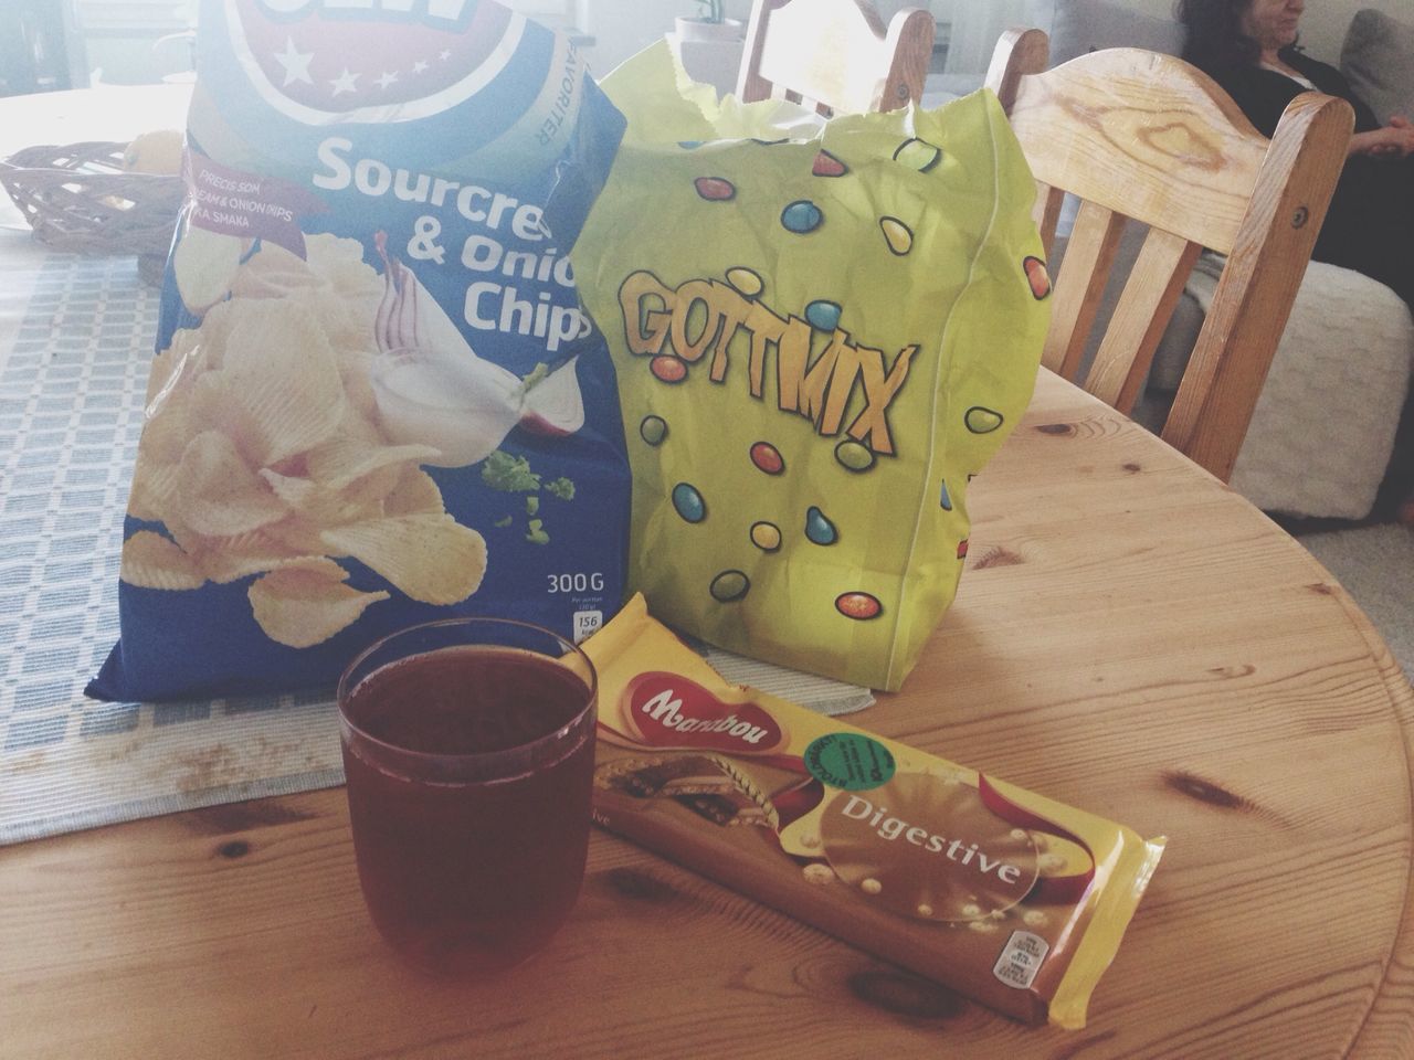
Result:
[[[1297,540],[1355,598],[1414,681],[1414,530],[1380,523]]]

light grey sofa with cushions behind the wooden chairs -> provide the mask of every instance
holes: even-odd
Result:
[[[1028,24],[1051,35],[1058,65],[1097,48],[1131,47],[1178,55],[1184,27],[1113,0],[1029,0]],[[1335,57],[1322,57],[1328,61]],[[1414,25],[1359,11],[1339,57],[1355,90],[1387,120],[1414,117]],[[923,103],[977,88],[981,75],[933,75]],[[1063,215],[1052,252],[1065,254]],[[1130,225],[1096,325],[1093,348],[1116,301],[1126,263],[1143,243]],[[1205,254],[1189,280],[1134,418],[1158,428],[1203,324],[1222,259]],[[1082,369],[1085,370],[1085,369]],[[1414,372],[1414,319],[1387,287],[1359,273],[1314,261],[1277,348],[1267,384],[1233,468],[1232,486],[1258,507],[1297,517],[1363,519],[1384,478]]]

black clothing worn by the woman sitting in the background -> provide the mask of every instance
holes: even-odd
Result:
[[[1294,48],[1281,52],[1281,61],[1326,95],[1348,100],[1355,107],[1355,131],[1367,133],[1380,127],[1374,112],[1350,90],[1350,83],[1338,69]],[[1263,66],[1208,72],[1233,98],[1247,120],[1268,137],[1275,131],[1287,103],[1308,90],[1287,75]],[[1410,117],[1414,119],[1414,114]],[[1414,311],[1414,155],[1348,158],[1311,257],[1379,280]]]

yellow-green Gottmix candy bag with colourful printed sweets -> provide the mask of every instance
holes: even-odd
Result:
[[[618,372],[629,588],[731,652],[898,688],[1049,319],[1005,114],[718,105],[665,47],[602,88],[628,131],[574,266]]]

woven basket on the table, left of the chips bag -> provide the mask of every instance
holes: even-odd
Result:
[[[0,184],[55,250],[165,256],[182,179],[124,172],[126,143],[27,147],[0,161]]]

